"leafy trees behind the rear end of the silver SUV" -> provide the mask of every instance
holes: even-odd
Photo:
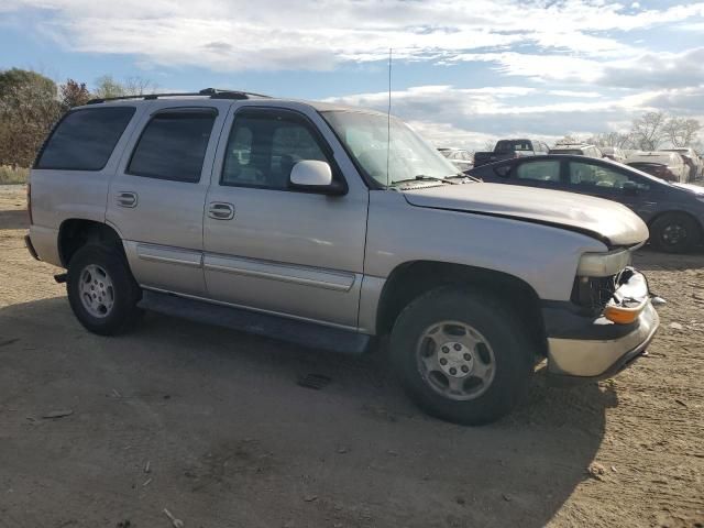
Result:
[[[92,98],[139,96],[155,88],[140,77],[119,81],[106,75],[91,91],[74,79],[56,84],[28,69],[0,70],[0,166],[31,166],[52,125],[67,110]]]

